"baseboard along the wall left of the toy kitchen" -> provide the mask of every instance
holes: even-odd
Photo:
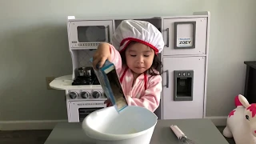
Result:
[[[0,121],[0,130],[52,130],[58,122],[67,120]]]

